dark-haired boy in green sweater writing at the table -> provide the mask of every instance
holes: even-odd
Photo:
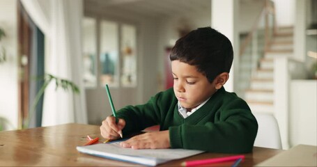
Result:
[[[157,93],[143,105],[126,106],[102,121],[104,138],[148,132],[121,142],[132,149],[184,148],[208,152],[251,152],[258,130],[247,103],[223,85],[233,61],[231,42],[210,27],[191,31],[171,50],[173,89]]]

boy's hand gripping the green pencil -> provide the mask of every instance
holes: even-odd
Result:
[[[118,118],[118,123],[116,123],[116,118],[114,116],[108,116],[102,121],[100,134],[103,138],[115,140],[120,138],[123,127],[125,127],[125,120]]]

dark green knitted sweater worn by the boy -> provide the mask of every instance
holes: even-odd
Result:
[[[160,125],[160,131],[169,130],[171,148],[252,152],[258,124],[247,103],[235,93],[219,89],[187,118],[180,116],[177,103],[173,88],[170,88],[157,93],[146,104],[119,110],[118,118],[126,122],[123,134]]]

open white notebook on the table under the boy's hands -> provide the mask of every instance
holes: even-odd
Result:
[[[133,150],[131,148],[122,148],[119,142],[99,143],[95,145],[77,146],[77,150],[84,154],[115,159],[118,161],[127,161],[146,166],[156,166],[173,159],[182,159],[199,154],[203,151],[185,150],[185,149],[143,149]]]

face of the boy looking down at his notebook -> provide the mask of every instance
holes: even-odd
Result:
[[[174,93],[187,111],[191,111],[206,101],[215,93],[215,81],[208,81],[207,77],[196,70],[194,65],[180,61],[171,62],[174,79]]]

